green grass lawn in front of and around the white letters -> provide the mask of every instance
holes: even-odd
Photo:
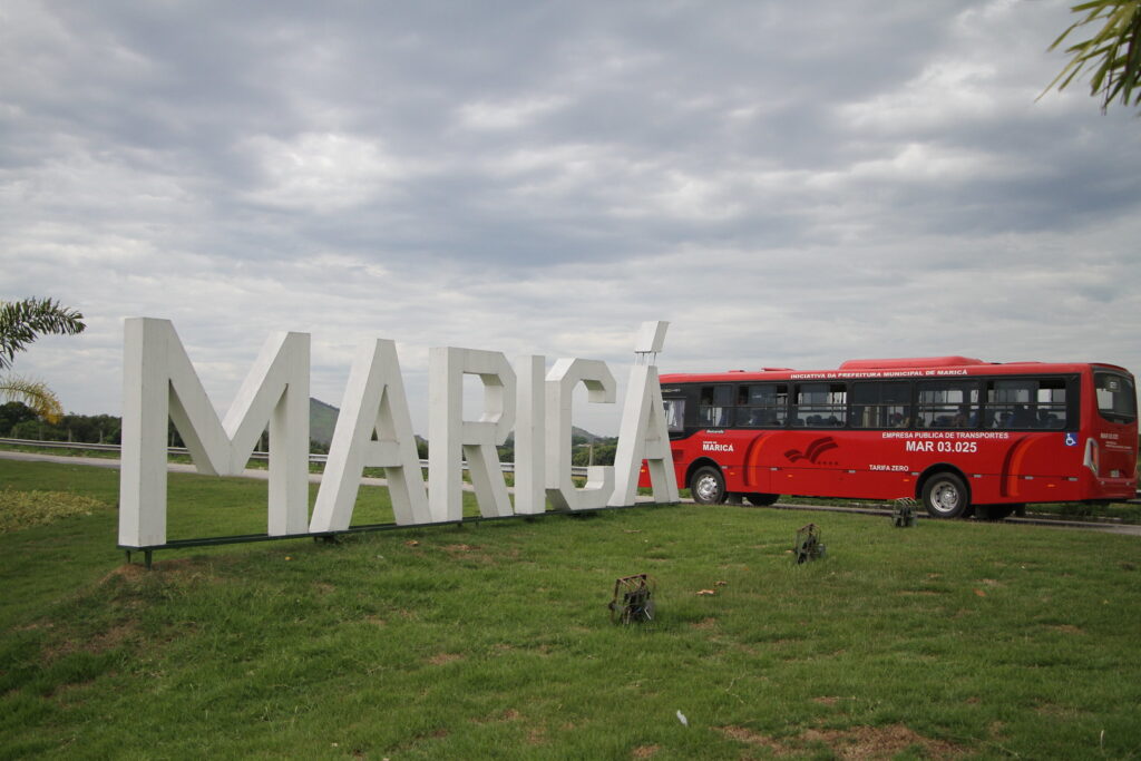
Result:
[[[0,461],[6,487],[103,507],[0,534],[0,758],[1141,755],[1138,536],[688,505],[146,572],[116,471]],[[172,473],[170,537],[264,532],[265,499]],[[354,523],[389,519],[362,489]],[[810,519],[827,557],[795,566]],[[612,624],[642,572],[657,618]]]

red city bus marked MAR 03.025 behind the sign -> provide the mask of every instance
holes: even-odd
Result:
[[[661,383],[678,486],[703,504],[912,497],[936,518],[1003,518],[1138,488],[1135,384],[1115,365],[857,359]]]

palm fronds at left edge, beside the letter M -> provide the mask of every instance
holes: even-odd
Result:
[[[42,333],[74,335],[87,324],[83,315],[51,299],[0,301],[0,370],[11,367],[16,354]],[[48,422],[64,414],[56,395],[41,381],[17,375],[0,375],[0,396],[9,402],[23,402]]]

